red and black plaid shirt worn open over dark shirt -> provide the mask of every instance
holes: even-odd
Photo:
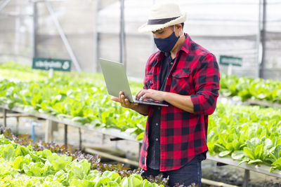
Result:
[[[166,80],[166,92],[190,95],[194,113],[173,105],[163,106],[160,127],[160,171],[179,169],[195,155],[208,151],[208,115],[216,109],[219,90],[219,70],[216,57],[185,34],[187,39]],[[144,89],[159,90],[159,62],[164,53],[150,56],[145,67]],[[147,169],[148,127],[154,109],[150,107],[141,146],[140,166]]]

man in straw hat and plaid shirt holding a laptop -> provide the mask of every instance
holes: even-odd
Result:
[[[139,32],[152,32],[159,50],[145,67],[143,90],[136,99],[155,99],[169,106],[132,104],[122,92],[112,100],[148,115],[140,166],[145,175],[163,172],[169,186],[201,186],[206,159],[208,116],[216,108],[219,71],[216,57],[183,32],[185,13],[176,4],[152,8]]]

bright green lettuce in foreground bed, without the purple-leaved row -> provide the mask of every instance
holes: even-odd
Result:
[[[31,146],[19,144],[0,135],[0,185],[1,186],[161,186],[143,180],[138,174],[122,177],[114,171],[91,170],[91,164],[72,160],[70,156],[51,153],[49,150],[34,151]],[[15,150],[18,154],[15,154]],[[15,181],[12,181],[16,179]],[[25,181],[20,181],[22,179]],[[127,183],[126,183],[127,181]],[[145,181],[145,182],[143,182]],[[151,184],[151,185],[150,185]]]

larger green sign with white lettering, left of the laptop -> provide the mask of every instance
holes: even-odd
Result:
[[[70,71],[71,60],[33,57],[32,69],[53,69],[55,71]]]

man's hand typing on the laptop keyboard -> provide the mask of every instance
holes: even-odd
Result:
[[[152,89],[148,89],[148,90],[139,90],[136,93],[136,99],[153,99],[155,101],[159,101],[159,102],[163,102],[164,101],[164,95],[166,94],[166,92],[162,92],[159,90],[152,90]]]

